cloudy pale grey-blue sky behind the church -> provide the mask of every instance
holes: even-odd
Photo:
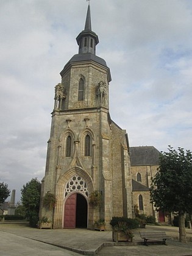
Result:
[[[44,176],[60,71],[78,53],[85,0],[0,1],[0,182]],[[192,150],[192,1],[91,0],[107,62],[110,116],[130,146]]]

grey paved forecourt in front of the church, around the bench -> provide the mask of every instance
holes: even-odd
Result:
[[[168,246],[152,244],[143,246],[139,231],[164,230],[172,240]],[[134,230],[133,243],[113,243],[112,232],[87,229],[32,229],[26,223],[2,224],[0,222],[0,255],[178,255],[192,256],[192,232],[187,229],[188,243],[177,241],[177,227],[146,226]],[[41,242],[41,243],[40,243]],[[43,243],[42,243],[43,242]],[[36,249],[35,249],[36,248]],[[38,248],[38,250],[37,250]],[[35,250],[35,251],[34,251]],[[66,251],[68,250],[68,251]],[[13,252],[13,254],[12,254]]]

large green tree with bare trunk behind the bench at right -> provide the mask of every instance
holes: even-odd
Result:
[[[152,179],[151,201],[155,207],[179,213],[179,241],[187,241],[185,213],[192,208],[192,154],[171,146],[160,155],[160,166]]]

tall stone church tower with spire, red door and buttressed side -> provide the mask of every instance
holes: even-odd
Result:
[[[92,229],[102,218],[110,229],[112,216],[132,218],[132,182],[126,130],[110,119],[110,69],[96,55],[98,35],[91,30],[90,5],[85,29],[76,38],[79,53],[64,66],[55,86],[51,136],[41,185],[40,218],[54,228]],[[55,194],[55,208],[43,207],[46,193]],[[91,194],[101,197],[90,204]]]

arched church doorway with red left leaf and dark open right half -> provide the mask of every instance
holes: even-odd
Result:
[[[87,229],[87,200],[82,194],[74,193],[66,199],[64,229]]]

